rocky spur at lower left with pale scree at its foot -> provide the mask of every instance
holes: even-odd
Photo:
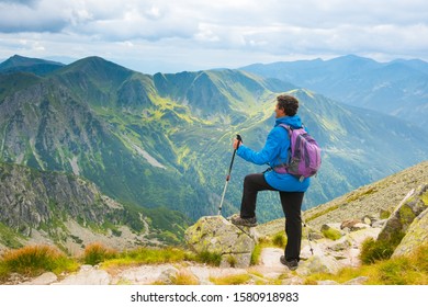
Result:
[[[0,163],[1,225],[9,230],[0,231],[0,250],[48,243],[72,254],[91,242],[132,248],[147,243],[149,232],[143,215],[87,180],[8,163]]]

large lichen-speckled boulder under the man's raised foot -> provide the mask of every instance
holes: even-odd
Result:
[[[248,268],[255,249],[255,229],[236,227],[223,216],[201,217],[185,230],[184,239],[196,253],[222,257],[222,268]]]

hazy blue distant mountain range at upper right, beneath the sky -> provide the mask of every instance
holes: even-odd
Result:
[[[378,62],[343,56],[243,68],[311,89],[346,104],[414,122],[427,130],[428,64],[421,60]]]

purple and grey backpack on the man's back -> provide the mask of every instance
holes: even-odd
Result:
[[[290,136],[289,161],[274,167],[274,171],[296,175],[301,181],[316,174],[320,167],[320,148],[316,140],[303,127],[280,126]]]

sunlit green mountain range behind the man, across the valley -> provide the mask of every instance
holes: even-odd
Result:
[[[239,70],[147,76],[90,57],[30,83],[20,76],[0,78],[1,161],[78,174],[121,202],[192,219],[216,214],[234,136],[262,147],[279,92],[301,100],[324,149],[306,208],[427,159],[428,136],[407,123]],[[236,160],[225,215],[244,175],[263,169]],[[275,193],[259,200],[261,221],[282,215]]]

